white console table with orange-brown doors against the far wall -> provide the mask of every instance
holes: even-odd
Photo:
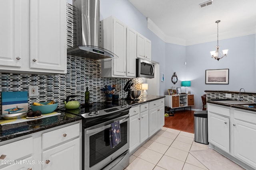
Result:
[[[194,106],[194,94],[175,94],[165,95],[165,106],[171,107],[172,109]]]

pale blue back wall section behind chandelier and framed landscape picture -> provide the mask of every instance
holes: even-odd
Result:
[[[196,109],[201,107],[204,90],[256,92],[256,54],[255,35],[246,35],[219,40],[220,49],[228,49],[227,57],[214,60],[210,51],[214,51],[216,41],[186,46],[186,77],[191,80],[190,90],[196,94]],[[229,69],[229,84],[205,84],[205,70]]]

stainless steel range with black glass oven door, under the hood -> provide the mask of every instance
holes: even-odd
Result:
[[[80,108],[78,115],[82,117],[83,127],[83,170],[123,170],[128,166],[130,107],[120,102],[99,102],[92,104],[92,107]],[[121,142],[112,148],[109,133],[111,123],[116,121],[120,122]]]

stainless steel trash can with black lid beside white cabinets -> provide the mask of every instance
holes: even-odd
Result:
[[[194,112],[194,141],[208,145],[207,110]]]

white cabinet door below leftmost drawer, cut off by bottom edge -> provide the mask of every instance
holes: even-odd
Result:
[[[10,160],[14,161],[14,160]],[[34,164],[38,164],[33,157],[29,157],[23,160],[15,161],[15,164],[1,168],[1,170],[34,170]]]

